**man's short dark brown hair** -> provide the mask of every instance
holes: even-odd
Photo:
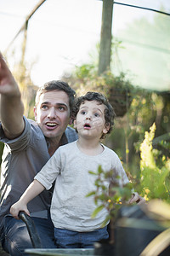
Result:
[[[45,83],[42,85],[42,87],[40,87],[37,90],[37,95],[36,95],[36,105],[39,102],[39,98],[40,96],[47,92],[47,91],[51,91],[51,90],[63,90],[65,91],[65,93],[68,95],[69,97],[69,107],[70,107],[70,113],[72,113],[72,109],[74,107],[74,100],[75,100],[75,96],[76,96],[76,92],[75,90],[73,90],[69,84],[65,83],[64,81],[60,81],[60,80],[53,80],[50,81],[48,83]]]

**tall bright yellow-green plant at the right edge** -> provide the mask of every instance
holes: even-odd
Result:
[[[152,146],[155,137],[155,123],[146,131],[140,146],[141,192],[146,199],[170,202],[170,160]]]

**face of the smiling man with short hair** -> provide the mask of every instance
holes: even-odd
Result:
[[[60,139],[70,120],[69,97],[63,90],[47,91],[40,96],[34,114],[45,137]]]

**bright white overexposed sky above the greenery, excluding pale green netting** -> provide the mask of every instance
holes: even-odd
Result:
[[[161,4],[170,12],[169,0],[122,0],[118,3],[139,4],[159,9]],[[20,27],[39,0],[0,0],[0,50],[6,49],[9,67],[20,57],[23,33],[12,42]],[[114,4],[112,33],[126,28],[139,17],[152,19],[153,12]],[[47,0],[31,17],[26,44],[26,62],[31,79],[41,86],[89,60],[89,54],[99,43],[102,17],[100,0]],[[15,50],[15,55],[11,53]],[[10,57],[9,57],[10,56]]]

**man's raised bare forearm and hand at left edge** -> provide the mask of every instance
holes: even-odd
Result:
[[[0,118],[3,131],[8,139],[19,137],[24,131],[24,106],[20,89],[0,53]]]

